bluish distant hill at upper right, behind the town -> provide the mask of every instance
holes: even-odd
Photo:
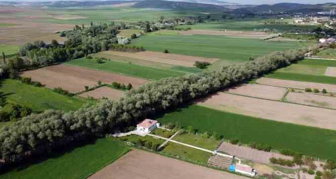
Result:
[[[297,13],[316,13],[319,11],[336,9],[336,4],[326,3],[318,5],[297,4],[297,3],[279,3],[274,5],[259,5],[255,7],[240,8],[240,12],[266,13],[272,12],[297,12]]]

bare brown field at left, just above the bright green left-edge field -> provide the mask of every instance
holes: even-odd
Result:
[[[85,86],[93,87],[97,85],[97,81],[51,71],[48,70],[48,68],[25,71],[21,76],[31,77],[33,81],[39,81],[48,88],[54,89],[55,87],[62,87],[72,93],[83,91]]]

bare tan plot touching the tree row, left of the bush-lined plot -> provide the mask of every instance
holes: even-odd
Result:
[[[281,100],[286,88],[260,84],[241,84],[224,90],[224,92],[270,100]]]

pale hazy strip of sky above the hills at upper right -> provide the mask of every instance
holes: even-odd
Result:
[[[336,0],[227,0],[226,2],[240,3],[240,4],[275,4],[275,3],[321,4],[321,3],[336,3]]]

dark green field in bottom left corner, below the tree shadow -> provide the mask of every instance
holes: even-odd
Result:
[[[84,179],[117,160],[129,150],[113,142],[111,138],[99,139],[94,144],[77,147],[62,154],[52,154],[45,161],[17,167],[0,175],[0,178]]]

